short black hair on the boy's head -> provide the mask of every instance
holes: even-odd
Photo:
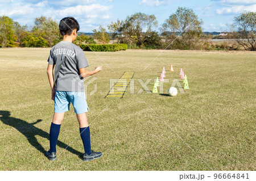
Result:
[[[73,17],[66,17],[60,20],[59,24],[60,33],[62,36],[71,35],[73,30],[79,31],[80,26],[77,20]]]

